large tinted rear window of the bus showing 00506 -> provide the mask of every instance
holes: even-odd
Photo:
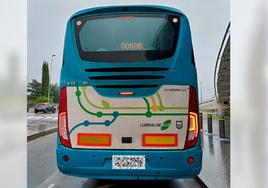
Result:
[[[74,20],[82,59],[141,62],[171,57],[177,46],[179,17],[163,14],[88,16]]]

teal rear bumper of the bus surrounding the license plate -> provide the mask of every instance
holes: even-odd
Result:
[[[69,161],[63,160],[68,155]],[[145,170],[114,170],[112,155],[145,155]],[[195,162],[188,164],[188,157]],[[57,147],[59,170],[67,175],[92,179],[177,179],[192,178],[199,174],[202,166],[200,145],[188,150],[85,150]]]

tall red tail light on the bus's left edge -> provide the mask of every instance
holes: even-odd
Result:
[[[70,136],[69,136],[69,129],[68,129],[66,87],[62,88],[61,93],[60,93],[58,132],[59,132],[61,143],[64,146],[72,147]]]

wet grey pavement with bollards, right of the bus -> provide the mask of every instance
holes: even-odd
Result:
[[[219,138],[216,116],[213,118],[213,134],[209,134],[205,118],[201,131],[203,166],[199,177],[209,188],[230,187],[230,140]]]

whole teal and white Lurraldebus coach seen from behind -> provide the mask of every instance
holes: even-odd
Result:
[[[92,179],[192,178],[202,166],[190,26],[164,6],[108,6],[67,22],[57,166]]]

